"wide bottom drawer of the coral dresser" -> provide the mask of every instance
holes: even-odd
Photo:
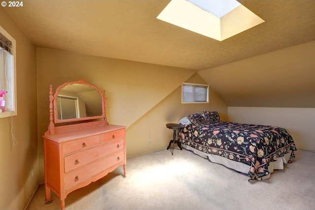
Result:
[[[124,150],[120,150],[104,158],[98,159],[88,165],[80,167],[72,172],[65,174],[65,189],[69,189],[82,181],[88,180],[96,174],[125,160]]]

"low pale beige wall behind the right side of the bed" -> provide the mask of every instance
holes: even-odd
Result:
[[[298,149],[315,150],[315,108],[228,107],[228,120],[286,128]]]

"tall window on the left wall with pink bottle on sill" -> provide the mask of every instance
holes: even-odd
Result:
[[[15,39],[0,27],[0,90],[7,92],[2,95],[5,103],[0,118],[17,115],[15,53]]]

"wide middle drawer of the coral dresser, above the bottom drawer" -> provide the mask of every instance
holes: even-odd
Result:
[[[81,166],[84,166],[97,159],[105,157],[111,153],[123,150],[124,139],[111,140],[98,147],[77,152],[69,156],[64,157],[64,172],[67,173]]]

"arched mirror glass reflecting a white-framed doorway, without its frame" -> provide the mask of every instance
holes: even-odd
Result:
[[[72,84],[59,91],[57,107],[59,120],[101,116],[102,98],[88,85]]]

